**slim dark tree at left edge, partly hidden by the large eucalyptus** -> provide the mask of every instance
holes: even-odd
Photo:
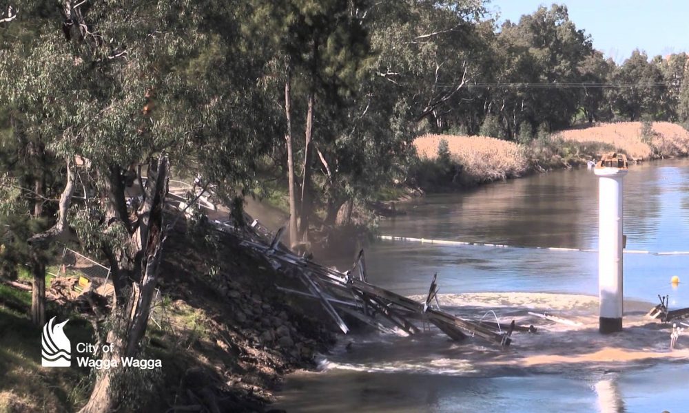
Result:
[[[8,17],[2,19],[5,24],[0,24],[0,50],[25,50],[46,24],[45,3],[23,2],[21,13],[10,6]],[[6,89],[12,87],[14,81],[6,83]],[[12,234],[0,255],[6,273],[16,272],[12,268],[16,266],[26,266],[33,273],[31,317],[40,325],[45,323],[45,263],[50,248],[29,246],[28,240],[45,229],[50,221],[46,218],[54,215],[52,200],[59,196],[64,173],[45,145],[45,136],[29,130],[23,108],[0,102],[0,186],[4,191],[0,220]]]

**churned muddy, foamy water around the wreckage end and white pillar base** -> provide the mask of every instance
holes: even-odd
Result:
[[[421,296],[412,296],[421,300]],[[435,326],[416,337],[370,332],[342,339],[323,356],[320,370],[413,372],[426,374],[501,374],[557,372],[568,369],[634,368],[662,361],[689,360],[689,334],[670,350],[670,324],[646,317],[652,304],[626,301],[624,331],[598,332],[598,298],[547,293],[474,293],[440,295],[443,310],[479,319],[493,310],[504,324],[533,325],[537,332],[513,332],[509,348],[495,348],[479,338],[454,342]],[[548,313],[578,325],[561,324],[530,315]],[[492,313],[484,319],[494,321]]]

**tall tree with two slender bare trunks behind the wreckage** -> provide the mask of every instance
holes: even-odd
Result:
[[[290,205],[290,238],[308,241],[309,218],[315,193],[312,171],[318,165],[314,146],[326,142],[318,128],[318,101],[342,106],[361,76],[369,57],[367,32],[362,27],[364,1],[291,0],[254,4],[251,32],[263,35],[268,87],[284,85],[285,142]],[[304,119],[299,124],[296,118]],[[296,131],[300,145],[301,182],[296,179]],[[297,192],[300,189],[300,197]],[[298,223],[298,226],[297,226]]]

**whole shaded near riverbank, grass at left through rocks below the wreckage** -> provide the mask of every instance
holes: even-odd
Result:
[[[335,341],[318,304],[276,288],[298,281],[232,235],[181,220],[163,261],[144,350],[162,368],[134,374],[136,392],[121,396],[123,411],[265,412],[282,377],[314,368],[314,355]],[[48,317],[69,319],[74,342],[94,342],[92,326],[102,321],[94,308],[105,313],[108,300],[72,294],[77,282],[52,280]],[[77,411],[93,374],[76,363],[41,368],[41,353],[33,351],[41,329],[30,323],[27,287],[0,284],[0,412]]]

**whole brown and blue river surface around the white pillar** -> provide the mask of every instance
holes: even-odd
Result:
[[[406,215],[382,221],[381,234],[509,247],[379,240],[366,251],[370,282],[423,295],[438,273],[445,310],[474,319],[495,310],[501,321],[517,319],[539,332],[515,333],[509,350],[477,339],[453,343],[434,331],[351,335],[324,354],[321,372],[291,374],[276,407],[689,411],[689,334],[669,352],[670,331],[644,318],[657,295],[669,295],[670,308],[689,306],[689,254],[670,254],[689,251],[689,160],[633,165],[624,179],[625,331],[610,336],[596,329],[597,254],[534,248],[597,248],[597,184],[586,169],[555,171],[398,205]],[[329,264],[346,268],[351,260]],[[670,284],[673,275],[679,286]],[[531,310],[580,326],[539,323]]]

